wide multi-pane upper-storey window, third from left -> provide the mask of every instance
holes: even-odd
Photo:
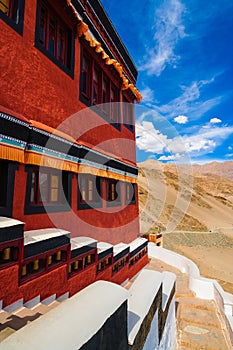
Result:
[[[100,114],[119,126],[118,104],[114,103],[119,102],[118,88],[84,48],[81,61],[81,100],[88,106],[101,104]]]

